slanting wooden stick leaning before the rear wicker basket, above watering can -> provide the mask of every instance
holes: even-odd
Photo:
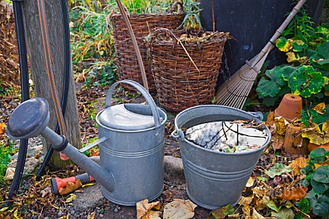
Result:
[[[147,77],[146,77],[146,73],[145,73],[145,68],[144,68],[141,52],[139,51],[138,43],[137,43],[137,40],[135,38],[134,31],[132,30],[132,25],[130,24],[127,13],[125,12],[125,8],[124,8],[123,3],[120,0],[117,0],[117,4],[118,4],[119,10],[122,14],[123,21],[125,21],[125,25],[127,26],[128,33],[130,34],[130,38],[132,38],[132,44],[134,46],[134,51],[135,51],[135,54],[136,54],[136,57],[137,57],[138,66],[141,69],[141,75],[142,75],[142,79],[143,79],[143,86],[147,90],[147,92],[149,92],[149,86],[147,85]]]

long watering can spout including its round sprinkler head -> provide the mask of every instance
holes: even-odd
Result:
[[[77,166],[86,171],[103,188],[108,192],[113,192],[115,181],[112,174],[75,149],[74,146],[69,144],[66,137],[59,136],[55,131],[49,129],[47,127],[48,122],[48,103],[45,99],[36,97],[25,101],[12,112],[12,116],[8,120],[7,133],[13,139],[43,136],[53,144],[53,149],[69,156]]]

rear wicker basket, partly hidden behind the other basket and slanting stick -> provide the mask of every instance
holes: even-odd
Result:
[[[173,12],[175,5],[180,5],[180,12]],[[177,27],[182,23],[184,16],[185,12],[183,5],[179,1],[173,3],[171,10],[169,10],[167,14],[129,15],[129,21],[132,25],[132,29],[134,31],[134,35],[136,37],[138,47],[143,59],[149,91],[156,90],[156,86],[154,84],[151,69],[147,65],[147,49],[143,39],[152,29],[157,27],[166,27],[167,29],[171,30],[177,29]],[[143,85],[141,70],[138,66],[137,58],[134,53],[132,40],[130,39],[129,32],[127,31],[127,27],[121,14],[112,14],[110,16],[110,21],[114,30],[114,48],[117,59],[119,79],[130,79]],[[127,86],[126,88],[132,89],[130,86]]]

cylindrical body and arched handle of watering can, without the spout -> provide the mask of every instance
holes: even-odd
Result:
[[[150,127],[149,124],[124,125],[114,121],[112,123],[111,120],[108,123],[102,121],[102,116],[104,120],[104,114],[111,110],[109,107],[116,107],[110,105],[110,99],[119,83],[127,83],[136,88],[149,104],[125,104],[125,110],[141,118],[153,116],[154,125]],[[106,95],[106,109],[96,116],[99,139],[108,138],[99,144],[100,163],[112,173],[115,180],[113,192],[101,188],[103,196],[108,200],[129,206],[145,198],[154,200],[162,193],[166,120],[167,115],[156,107],[150,94],[138,83],[124,80],[110,87]]]

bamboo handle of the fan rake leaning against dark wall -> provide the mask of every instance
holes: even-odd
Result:
[[[302,8],[302,6],[304,5],[304,3],[306,1],[307,0],[300,0],[297,3],[297,5],[295,5],[295,7],[293,8],[293,10],[289,14],[289,16],[287,16],[286,20],[284,20],[282,25],[280,25],[280,27],[276,30],[276,33],[272,36],[272,38],[269,40],[269,42],[267,42],[267,44],[262,49],[262,51],[260,51],[260,53],[258,54],[258,57],[256,58],[255,62],[253,63],[253,66],[255,66],[260,61],[260,59],[265,55],[265,53],[269,53],[269,51],[271,51],[273,49],[273,44],[276,43],[276,40],[282,34],[282,31],[284,31],[284,29],[286,29],[286,27],[289,25],[291,20],[293,20],[293,17],[297,14],[297,12],[300,11],[300,9]]]

